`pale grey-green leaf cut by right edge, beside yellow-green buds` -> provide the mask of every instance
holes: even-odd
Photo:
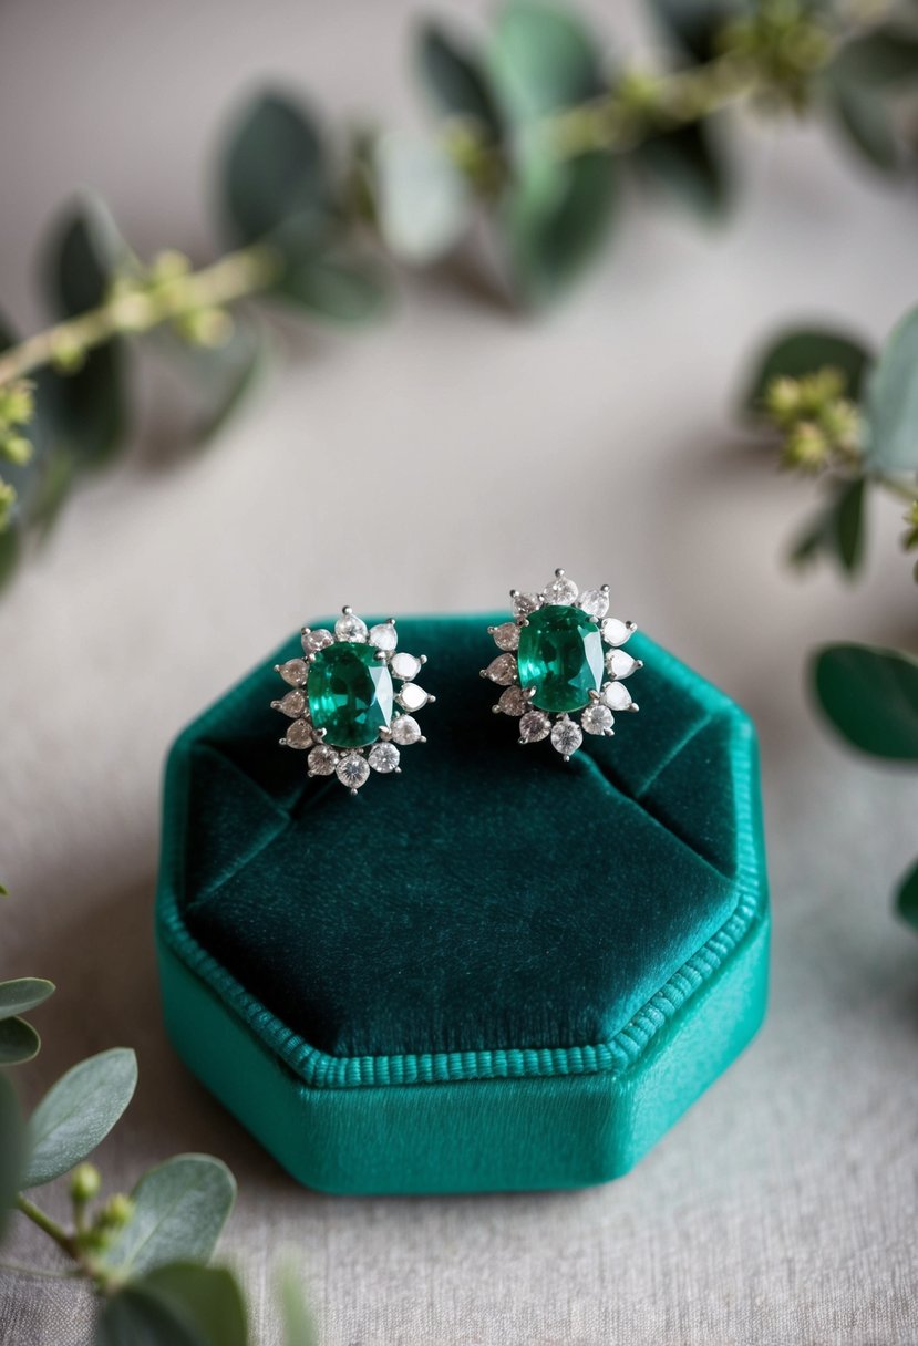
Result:
[[[867,389],[867,460],[882,472],[918,471],[918,308],[892,328]]]

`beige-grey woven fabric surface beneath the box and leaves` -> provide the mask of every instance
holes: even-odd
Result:
[[[213,133],[264,74],[337,113],[412,117],[417,9],[7,0],[3,306],[35,320],[36,230],[78,183],[109,197],[140,250],[206,254]],[[0,872],[15,894],[0,973],[61,988],[23,1086],[34,1097],[79,1057],[136,1046],[140,1089],[104,1148],[106,1179],[127,1186],[176,1149],[232,1164],[225,1250],[265,1346],[284,1253],[335,1346],[918,1341],[918,940],[888,900],[915,849],[918,786],[831,742],[801,676],[824,638],[914,642],[914,587],[898,510],[879,505],[856,591],[789,579],[779,555],[806,491],[731,420],[774,323],[853,320],[879,339],[918,297],[915,202],[816,131],[750,129],[734,148],[743,190],[723,233],[638,203],[607,265],[540,324],[446,276],[407,287],[376,332],[291,330],[292,358],[205,456],[175,460],[178,393],[147,371],[133,458],[82,491],[0,604]],[[296,1190],[163,1042],[149,926],[166,746],[310,611],[481,608],[557,564],[608,577],[616,606],[761,727],[767,1026],[612,1187]],[[32,1246],[20,1230],[8,1256]],[[78,1288],[4,1273],[4,1343],[81,1346],[89,1323]]]

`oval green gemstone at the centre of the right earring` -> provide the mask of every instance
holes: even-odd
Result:
[[[579,607],[530,612],[520,631],[520,685],[540,711],[579,711],[603,684],[603,638]]]

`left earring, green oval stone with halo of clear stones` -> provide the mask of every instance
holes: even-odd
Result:
[[[271,703],[292,720],[280,743],[308,750],[308,775],[337,775],[357,794],[370,769],[398,774],[400,750],[427,742],[415,719],[436,700],[415,682],[427,656],[397,645],[394,616],[367,629],[345,607],[334,631],[303,627],[302,660],[275,665],[291,688]]]

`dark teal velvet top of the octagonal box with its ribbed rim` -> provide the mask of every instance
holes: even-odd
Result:
[[[400,621],[428,743],[357,798],[277,746],[296,639],[176,746],[160,935],[311,1086],[616,1067],[761,914],[744,716],[638,635],[642,712],[565,765],[490,712],[487,623]]]

